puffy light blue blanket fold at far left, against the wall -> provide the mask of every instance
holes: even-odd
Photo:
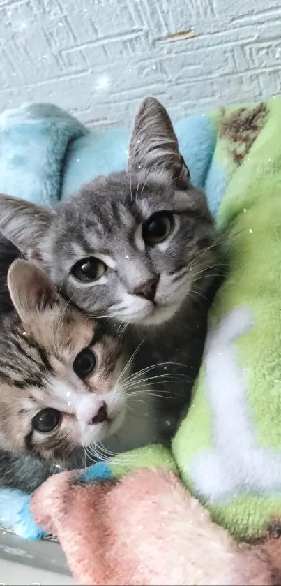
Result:
[[[23,105],[0,116],[0,191],[40,205],[61,198],[68,145],[89,133],[52,104]]]

